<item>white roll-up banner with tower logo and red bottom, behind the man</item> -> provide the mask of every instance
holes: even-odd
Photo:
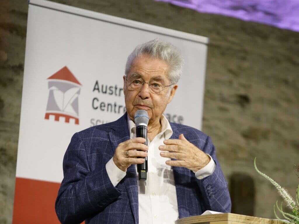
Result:
[[[125,113],[134,48],[159,38],[185,65],[164,115],[201,129],[208,38],[44,0],[30,0],[13,223],[59,223],[54,204],[71,136]]]

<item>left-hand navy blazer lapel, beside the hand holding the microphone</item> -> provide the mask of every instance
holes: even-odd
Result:
[[[112,128],[114,131],[109,132],[110,142],[112,144],[113,153],[121,142],[130,139],[129,128],[127,123],[127,113],[120,119],[114,122]],[[129,166],[124,177],[127,194],[129,197],[130,206],[135,218],[135,223],[138,223],[138,185],[135,165]]]

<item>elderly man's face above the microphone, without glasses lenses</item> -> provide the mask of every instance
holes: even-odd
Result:
[[[152,80],[161,80],[165,85],[170,85],[167,78],[167,63],[152,58],[144,54],[136,58],[131,66],[128,74],[128,79],[132,74],[140,76],[145,82]],[[153,93],[149,89],[149,85],[144,83],[140,90],[128,90],[129,83],[126,81],[126,76],[123,76],[123,92],[125,95],[126,110],[129,117],[134,120],[134,115],[137,110],[146,110],[149,115],[149,124],[160,119],[168,103],[171,102],[174,93],[176,92],[177,85],[165,87],[160,93]],[[170,94],[169,88],[172,88]]]

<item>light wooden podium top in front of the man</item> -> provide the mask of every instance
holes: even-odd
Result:
[[[273,219],[264,219],[233,213],[190,216],[176,220],[175,224],[282,224]]]

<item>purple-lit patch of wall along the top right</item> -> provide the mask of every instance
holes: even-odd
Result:
[[[299,0],[155,0],[299,32]]]

